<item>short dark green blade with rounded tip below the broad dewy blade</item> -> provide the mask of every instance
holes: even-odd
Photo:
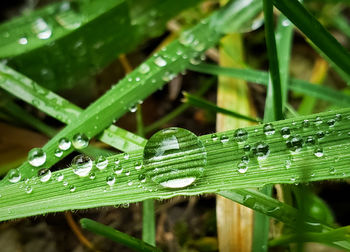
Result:
[[[160,249],[151,246],[139,239],[136,239],[128,234],[115,230],[112,227],[105,226],[99,222],[83,218],[80,224],[84,229],[87,229],[95,234],[102,235],[112,241],[121,243],[135,251],[159,252]]]

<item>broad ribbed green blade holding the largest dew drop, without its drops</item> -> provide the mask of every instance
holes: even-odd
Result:
[[[333,120],[336,120],[334,125]],[[310,123],[309,127],[306,127],[306,122]],[[204,176],[193,186],[169,190],[151,180],[142,183],[138,179],[142,168],[134,168],[136,162],[142,162],[143,152],[139,150],[130,153],[128,159],[123,154],[109,157],[110,165],[102,171],[94,166],[94,180],[81,178],[73,173],[72,168],[67,168],[54,172],[52,179],[46,183],[35,176],[15,184],[3,184],[0,187],[0,220],[152,198],[166,199],[176,195],[198,195],[219,190],[262,187],[266,184],[294,184],[350,177],[350,109],[276,121],[273,126],[276,132],[270,136],[264,134],[263,125],[245,128],[249,136],[245,144],[254,146],[264,142],[269,145],[270,152],[266,159],[258,160],[254,155],[251,156],[248,170],[244,174],[238,172],[238,165],[242,156],[247,154],[244,146],[234,140],[235,131],[230,130],[216,133],[218,139],[223,136],[229,138],[224,143],[216,138],[213,140],[212,135],[199,137],[207,152],[207,166]],[[280,134],[283,127],[290,127],[291,134],[300,136],[304,142],[309,136],[320,137],[326,131],[327,134],[316,140],[318,144],[304,144],[300,151],[295,152],[287,147],[286,139]],[[323,150],[321,157],[314,154],[319,148]],[[115,175],[113,171],[116,159],[120,160],[123,167],[120,175]],[[183,159],[186,160],[186,155]],[[57,181],[58,174],[64,175],[62,181]],[[116,177],[116,183],[112,187],[106,183],[106,178],[110,175]],[[27,186],[32,188],[30,194],[25,192]]]

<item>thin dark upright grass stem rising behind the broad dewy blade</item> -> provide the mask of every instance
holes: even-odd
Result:
[[[263,10],[265,19],[265,41],[269,58],[269,77],[271,78],[271,85],[269,81],[267,86],[264,121],[271,122],[283,118],[282,89],[274,33],[272,0],[263,0]]]

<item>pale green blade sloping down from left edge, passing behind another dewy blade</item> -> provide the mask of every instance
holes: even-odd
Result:
[[[0,87],[65,124],[72,123],[83,111],[5,65],[0,66]],[[146,144],[143,138],[114,125],[104,130],[99,139],[122,151],[142,149]]]

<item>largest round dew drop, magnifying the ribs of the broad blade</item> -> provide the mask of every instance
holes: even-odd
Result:
[[[145,175],[166,188],[184,188],[203,175],[207,153],[192,132],[168,128],[155,133],[143,153]]]

